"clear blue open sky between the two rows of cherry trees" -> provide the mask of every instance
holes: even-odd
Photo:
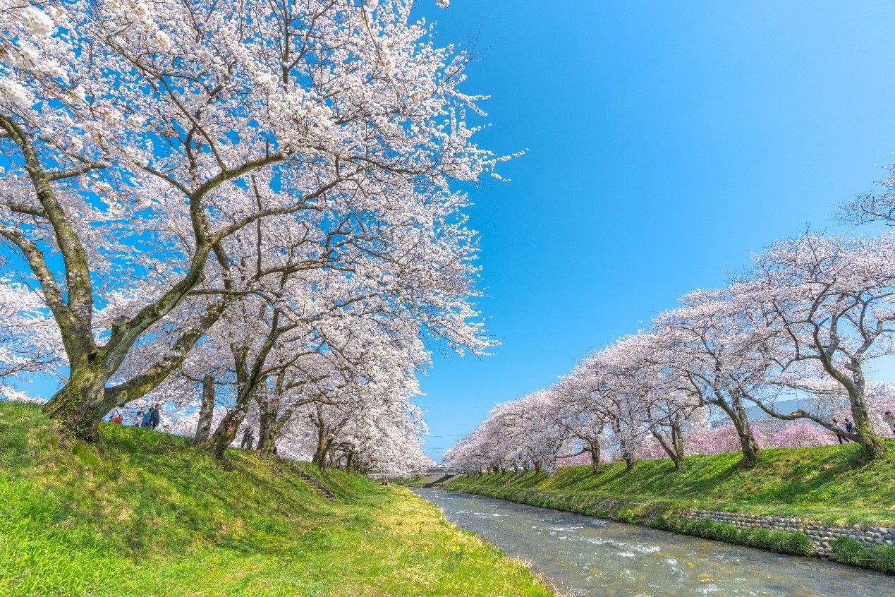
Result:
[[[837,229],[895,161],[895,12],[852,4],[417,0],[440,44],[475,41],[482,145],[528,149],[471,193],[502,345],[436,356],[431,456],[751,252]]]

